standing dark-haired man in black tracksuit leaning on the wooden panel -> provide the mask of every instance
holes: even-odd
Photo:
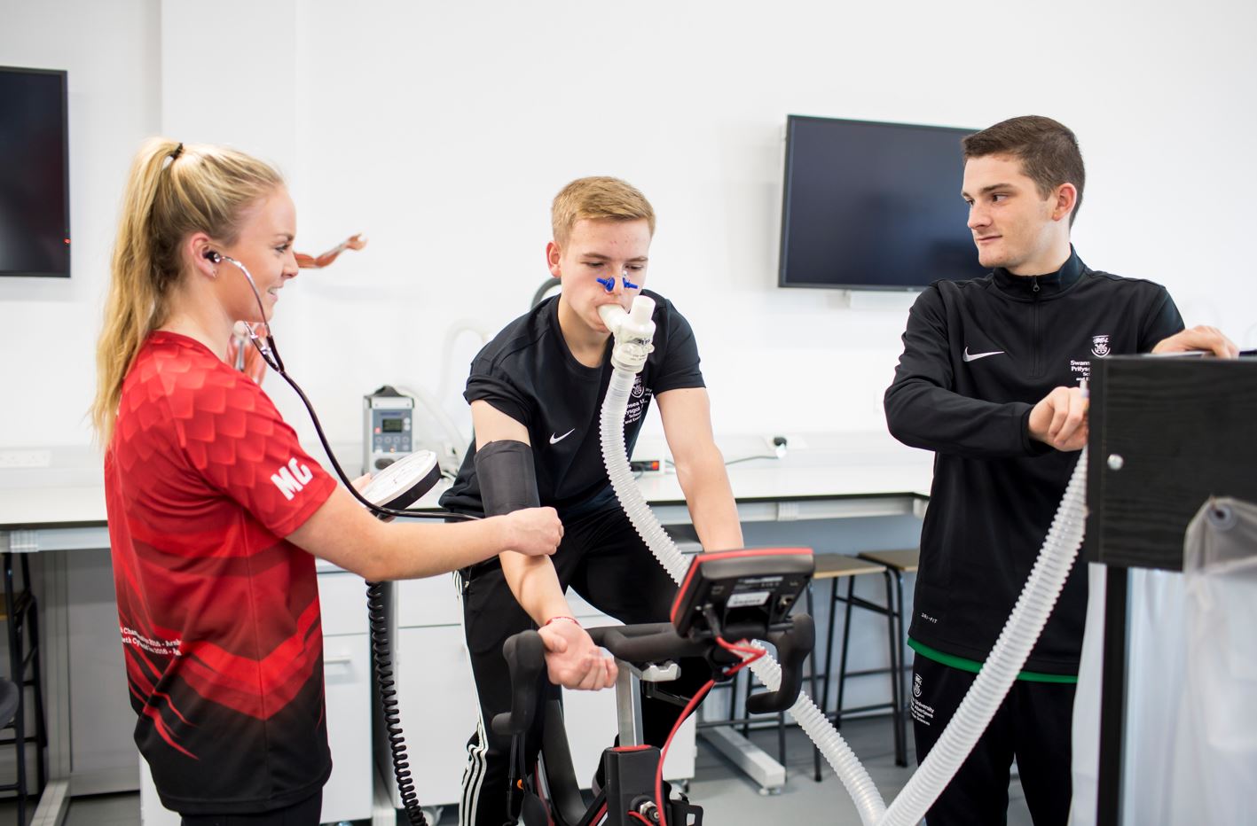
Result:
[[[1212,328],[1183,329],[1165,287],[1087,267],[1070,245],[1084,167],[1072,132],[1013,118],[968,136],[963,197],[979,261],[970,281],[939,281],[913,305],[886,390],[891,433],[935,451],[909,630],[911,714],[924,759],[994,645],[1086,443],[1091,362],[1111,354],[1207,349],[1234,355]],[[1086,610],[1075,567],[1003,705],[929,826],[1004,823],[1013,758],[1036,826],[1070,811],[1070,732]]]

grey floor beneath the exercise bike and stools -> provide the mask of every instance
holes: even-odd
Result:
[[[894,762],[889,718],[848,721],[842,734],[860,757],[884,798],[894,798],[911,776],[911,768]],[[754,739],[769,753],[777,752],[774,731],[753,732]],[[787,729],[786,786],[777,795],[762,796],[755,783],[740,775],[710,747],[699,744],[696,775],[690,783],[690,800],[703,807],[704,822],[713,826],[759,826],[763,823],[832,823],[860,826],[860,816],[842,783],[822,761],[821,782],[812,780],[812,751],[807,736]],[[915,761],[909,756],[909,762]],[[16,822],[16,807],[0,803],[0,826]],[[140,822],[138,795],[77,797],[70,803],[65,826],[134,826]],[[362,821],[363,823],[366,821]],[[439,826],[456,822],[446,811]],[[1009,790],[1009,826],[1031,826],[1029,812],[1013,782]]]

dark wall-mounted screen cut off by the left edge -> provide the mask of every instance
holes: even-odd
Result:
[[[0,276],[70,275],[65,78],[0,67]]]

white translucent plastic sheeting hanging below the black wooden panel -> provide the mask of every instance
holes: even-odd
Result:
[[[1096,822],[1104,570],[1089,570],[1072,826]],[[1205,503],[1183,572],[1133,570],[1128,608],[1123,822],[1257,823],[1257,506]]]

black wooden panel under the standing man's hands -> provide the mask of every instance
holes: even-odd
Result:
[[[1087,559],[1182,570],[1183,531],[1205,500],[1257,502],[1257,359],[1091,368]]]

